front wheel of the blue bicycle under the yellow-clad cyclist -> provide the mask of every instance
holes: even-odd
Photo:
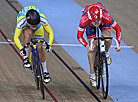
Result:
[[[42,98],[45,99],[45,93],[44,93],[44,86],[43,86],[43,79],[42,79],[42,71],[41,71],[41,65],[40,65],[40,60],[38,59],[38,56],[35,57],[36,59],[36,65],[37,65],[37,73],[38,73],[38,83],[39,83],[39,87],[41,89],[41,94],[42,94]]]

